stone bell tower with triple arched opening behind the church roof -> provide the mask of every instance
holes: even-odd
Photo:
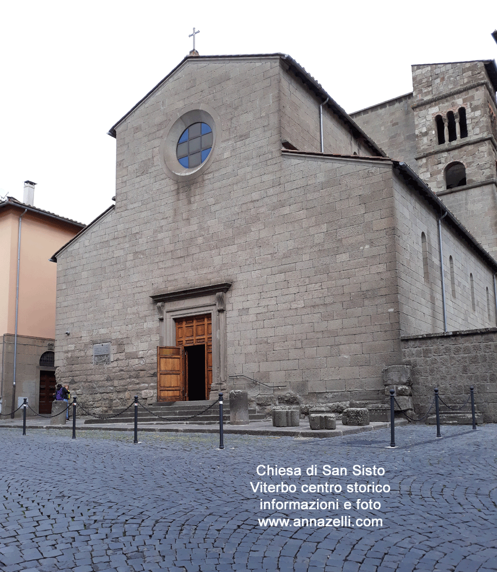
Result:
[[[497,255],[495,60],[412,66],[420,178]]]

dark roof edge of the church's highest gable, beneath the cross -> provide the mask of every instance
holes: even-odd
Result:
[[[193,61],[198,60],[214,60],[214,59],[262,59],[262,58],[280,58],[281,61],[287,63],[289,70],[304,84],[309,88],[316,97],[320,98],[324,101],[327,101],[327,106],[332,109],[332,111],[340,117],[342,121],[349,124],[353,136],[356,138],[361,138],[364,140],[365,144],[368,145],[375,153],[380,154],[380,156],[385,157],[385,153],[381,150],[375,142],[364,133],[364,131],[352,120],[350,116],[345,112],[340,105],[337,104],[335,100],[319,84],[308,72],[305,71],[304,67],[302,67],[299,63],[295,61],[295,59],[291,58],[287,54],[275,53],[275,54],[248,54],[248,55],[187,55],[185,58],[182,59],[180,63],[173,70],[171,70],[168,75],[163,78],[156,86],[154,86],[144,97],[141,98],[140,101],[136,105],[134,105],[128,113],[121,117],[119,121],[117,121],[108,131],[108,134],[112,137],[116,137],[116,127],[126,119],[131,113],[134,112],[148,97],[150,97],[162,84],[164,84],[168,79],[178,70],[181,66],[183,66],[186,62],[190,59]]]

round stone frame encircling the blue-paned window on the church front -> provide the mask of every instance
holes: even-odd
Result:
[[[200,165],[188,169],[180,164],[176,156],[181,134],[194,123],[206,123],[212,129],[213,141],[209,156]],[[216,110],[204,103],[187,105],[173,114],[164,130],[160,145],[160,161],[164,172],[174,181],[191,181],[204,173],[216,157],[221,141],[221,119]]]

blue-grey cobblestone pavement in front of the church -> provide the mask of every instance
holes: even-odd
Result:
[[[226,435],[218,450],[210,434],[144,433],[133,444],[129,433],[78,431],[73,440],[67,431],[0,429],[0,570],[495,571],[497,426],[435,435],[399,427],[395,449],[388,430]],[[258,465],[303,475],[257,475]],[[347,476],[323,475],[325,465]],[[354,465],[376,475],[353,475]],[[252,490],[282,481],[296,491]],[[391,491],[359,492],[373,482]],[[328,492],[306,492],[309,484]],[[357,509],[359,498],[367,508]],[[261,510],[261,499],[275,508]],[[309,505],[288,505],[296,501]],[[327,508],[313,510],[316,501]],[[266,518],[276,526],[260,526]]]

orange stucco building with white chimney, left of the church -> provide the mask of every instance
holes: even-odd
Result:
[[[54,338],[57,267],[51,255],[82,223],[33,206],[34,183],[24,201],[0,202],[0,412],[28,399],[47,413],[55,385]],[[19,240],[20,239],[20,240]],[[18,412],[19,415],[21,411]],[[28,410],[28,415],[33,414]]]

